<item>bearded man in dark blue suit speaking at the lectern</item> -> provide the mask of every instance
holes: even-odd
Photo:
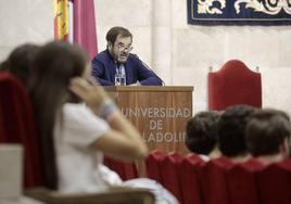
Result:
[[[114,86],[115,75],[125,76],[126,85],[162,86],[163,81],[136,54],[131,54],[132,34],[112,27],[106,34],[106,50],[92,60],[92,76],[102,86]]]

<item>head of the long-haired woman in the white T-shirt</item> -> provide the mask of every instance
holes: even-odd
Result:
[[[68,90],[69,80],[88,75],[87,68],[87,55],[79,47],[52,41],[37,53],[29,86],[31,90],[39,90],[39,93],[45,91],[42,94],[51,101],[50,104],[61,99],[63,103],[72,102],[74,97]]]

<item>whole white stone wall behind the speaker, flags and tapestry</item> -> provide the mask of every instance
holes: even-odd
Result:
[[[190,26],[186,0],[94,0],[99,50],[115,25],[134,34],[134,52],[166,85],[194,86],[194,111],[206,110],[208,66],[218,69],[240,59],[252,69],[260,66],[263,105],[291,113],[291,26]],[[26,41],[53,38],[52,1],[0,1],[0,60]]]

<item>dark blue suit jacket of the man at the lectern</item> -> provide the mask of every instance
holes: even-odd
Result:
[[[147,68],[135,54],[129,54],[125,66],[126,84],[136,84],[139,81],[142,86],[162,86],[163,81],[152,71]],[[105,50],[100,52],[92,60],[92,76],[102,86],[114,86],[116,73],[116,63]]]

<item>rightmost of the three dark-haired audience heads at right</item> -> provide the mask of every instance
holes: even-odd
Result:
[[[254,113],[245,130],[246,146],[253,156],[289,154],[291,135],[290,118],[278,110],[261,110]]]

